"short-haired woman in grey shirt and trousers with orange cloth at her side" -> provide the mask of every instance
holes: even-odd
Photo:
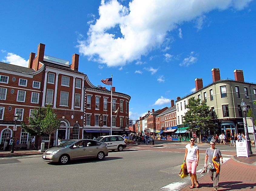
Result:
[[[221,151],[218,148],[215,148],[215,141],[210,142],[211,147],[206,149],[205,158],[204,158],[204,167],[208,167],[209,163],[215,161],[218,164],[218,168],[209,169],[209,175],[213,181],[214,191],[218,191],[219,186],[219,175],[220,175],[220,162],[223,163],[221,156]]]

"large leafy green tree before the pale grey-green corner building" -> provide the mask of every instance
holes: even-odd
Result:
[[[189,124],[187,129],[198,132],[200,139],[201,130],[209,130],[217,126],[212,120],[210,107],[204,101],[191,97],[186,107],[188,112],[183,116],[183,122]]]

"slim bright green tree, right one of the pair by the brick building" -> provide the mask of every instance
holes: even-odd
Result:
[[[46,108],[45,118],[42,120],[42,131],[44,134],[49,135],[49,145],[51,141],[51,135],[59,128],[60,120],[57,118],[56,113],[53,112],[53,109],[50,105]]]

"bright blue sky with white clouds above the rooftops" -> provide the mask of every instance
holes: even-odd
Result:
[[[170,107],[195,78],[255,81],[256,3],[251,0],[1,1],[0,61],[28,66],[31,52],[71,61],[94,85],[113,75],[130,119]],[[108,89],[110,86],[106,86]]]

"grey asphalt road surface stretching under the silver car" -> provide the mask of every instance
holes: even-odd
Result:
[[[0,159],[1,191],[15,190],[163,190],[173,182],[184,159],[185,143],[158,142],[151,147],[138,145],[122,152],[110,151],[103,161],[79,160],[67,165],[50,164],[41,157]],[[205,149],[200,145],[198,169],[203,167]],[[234,148],[219,145],[227,155]],[[187,179],[189,180],[189,179]]]

